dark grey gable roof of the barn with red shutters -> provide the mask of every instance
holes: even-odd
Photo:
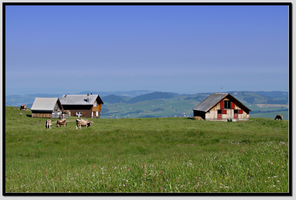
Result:
[[[207,112],[211,108],[213,108],[217,103],[219,103],[222,99],[224,99],[226,96],[231,96],[232,98],[236,99],[234,96],[232,96],[229,93],[217,93],[214,92],[210,96],[208,96],[205,100],[200,102],[196,107],[194,107],[192,110],[199,110],[203,112]],[[237,99],[236,99],[237,100]],[[237,100],[239,103],[241,103],[239,100]],[[242,103],[241,103],[242,104]],[[251,111],[248,107],[246,107],[244,104],[242,104],[243,107]]]

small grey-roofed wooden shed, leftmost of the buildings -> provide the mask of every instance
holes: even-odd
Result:
[[[32,117],[52,118],[63,109],[58,97],[36,97],[32,105]]]

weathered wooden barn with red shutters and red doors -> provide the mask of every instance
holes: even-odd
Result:
[[[213,93],[193,108],[205,120],[248,120],[250,109],[229,93]]]

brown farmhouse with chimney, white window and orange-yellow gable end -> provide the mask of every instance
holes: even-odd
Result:
[[[103,101],[99,95],[68,95],[65,94],[61,99],[65,110],[70,110],[71,116],[100,118]]]

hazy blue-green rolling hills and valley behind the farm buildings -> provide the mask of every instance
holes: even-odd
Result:
[[[143,118],[143,117],[192,117],[192,109],[211,93],[178,94],[158,91],[92,92],[99,94],[102,105],[101,118]],[[227,91],[252,111],[250,117],[274,118],[283,114],[288,119],[288,92],[283,91]],[[118,95],[120,94],[120,95]],[[124,95],[122,95],[124,94]],[[137,95],[138,94],[138,95]],[[36,97],[62,97],[62,94],[30,94],[5,96],[6,106],[30,108]]]

